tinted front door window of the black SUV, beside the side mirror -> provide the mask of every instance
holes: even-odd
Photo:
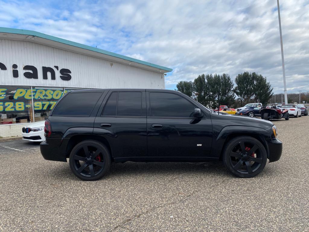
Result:
[[[173,93],[151,92],[150,114],[153,117],[193,117],[194,105]]]

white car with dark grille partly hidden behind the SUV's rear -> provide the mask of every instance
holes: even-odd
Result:
[[[23,127],[21,135],[23,140],[28,140],[32,142],[43,142],[45,141],[44,136],[44,126],[45,121],[34,122],[26,127]]]

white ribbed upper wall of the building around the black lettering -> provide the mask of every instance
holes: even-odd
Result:
[[[0,39],[0,85],[48,86],[72,88],[164,88],[164,74],[130,65],[111,62],[29,41]],[[17,64],[19,77],[14,78],[12,65]],[[112,64],[112,65],[111,65]],[[38,79],[23,76],[23,66],[38,70]],[[42,67],[52,67],[56,79],[43,79]],[[54,66],[58,66],[57,70]],[[60,78],[60,69],[70,69],[69,81]]]

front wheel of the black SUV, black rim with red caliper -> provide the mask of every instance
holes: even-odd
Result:
[[[237,177],[256,176],[265,168],[266,162],[267,153],[264,145],[250,136],[231,139],[223,148],[223,163]]]

